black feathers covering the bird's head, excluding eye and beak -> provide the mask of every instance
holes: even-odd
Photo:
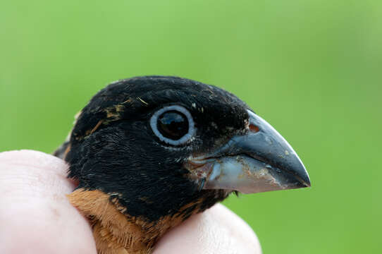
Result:
[[[187,110],[195,125],[192,138],[178,145],[161,140],[150,125],[155,112],[171,106]],[[69,177],[78,179],[78,188],[108,193],[127,207],[128,214],[149,221],[175,214],[196,200],[202,200],[198,209],[205,210],[230,191],[200,190],[187,176],[184,163],[243,131],[247,109],[235,95],[194,80],[119,80],[98,92],[80,112],[67,143]],[[183,211],[185,218],[193,208]]]

